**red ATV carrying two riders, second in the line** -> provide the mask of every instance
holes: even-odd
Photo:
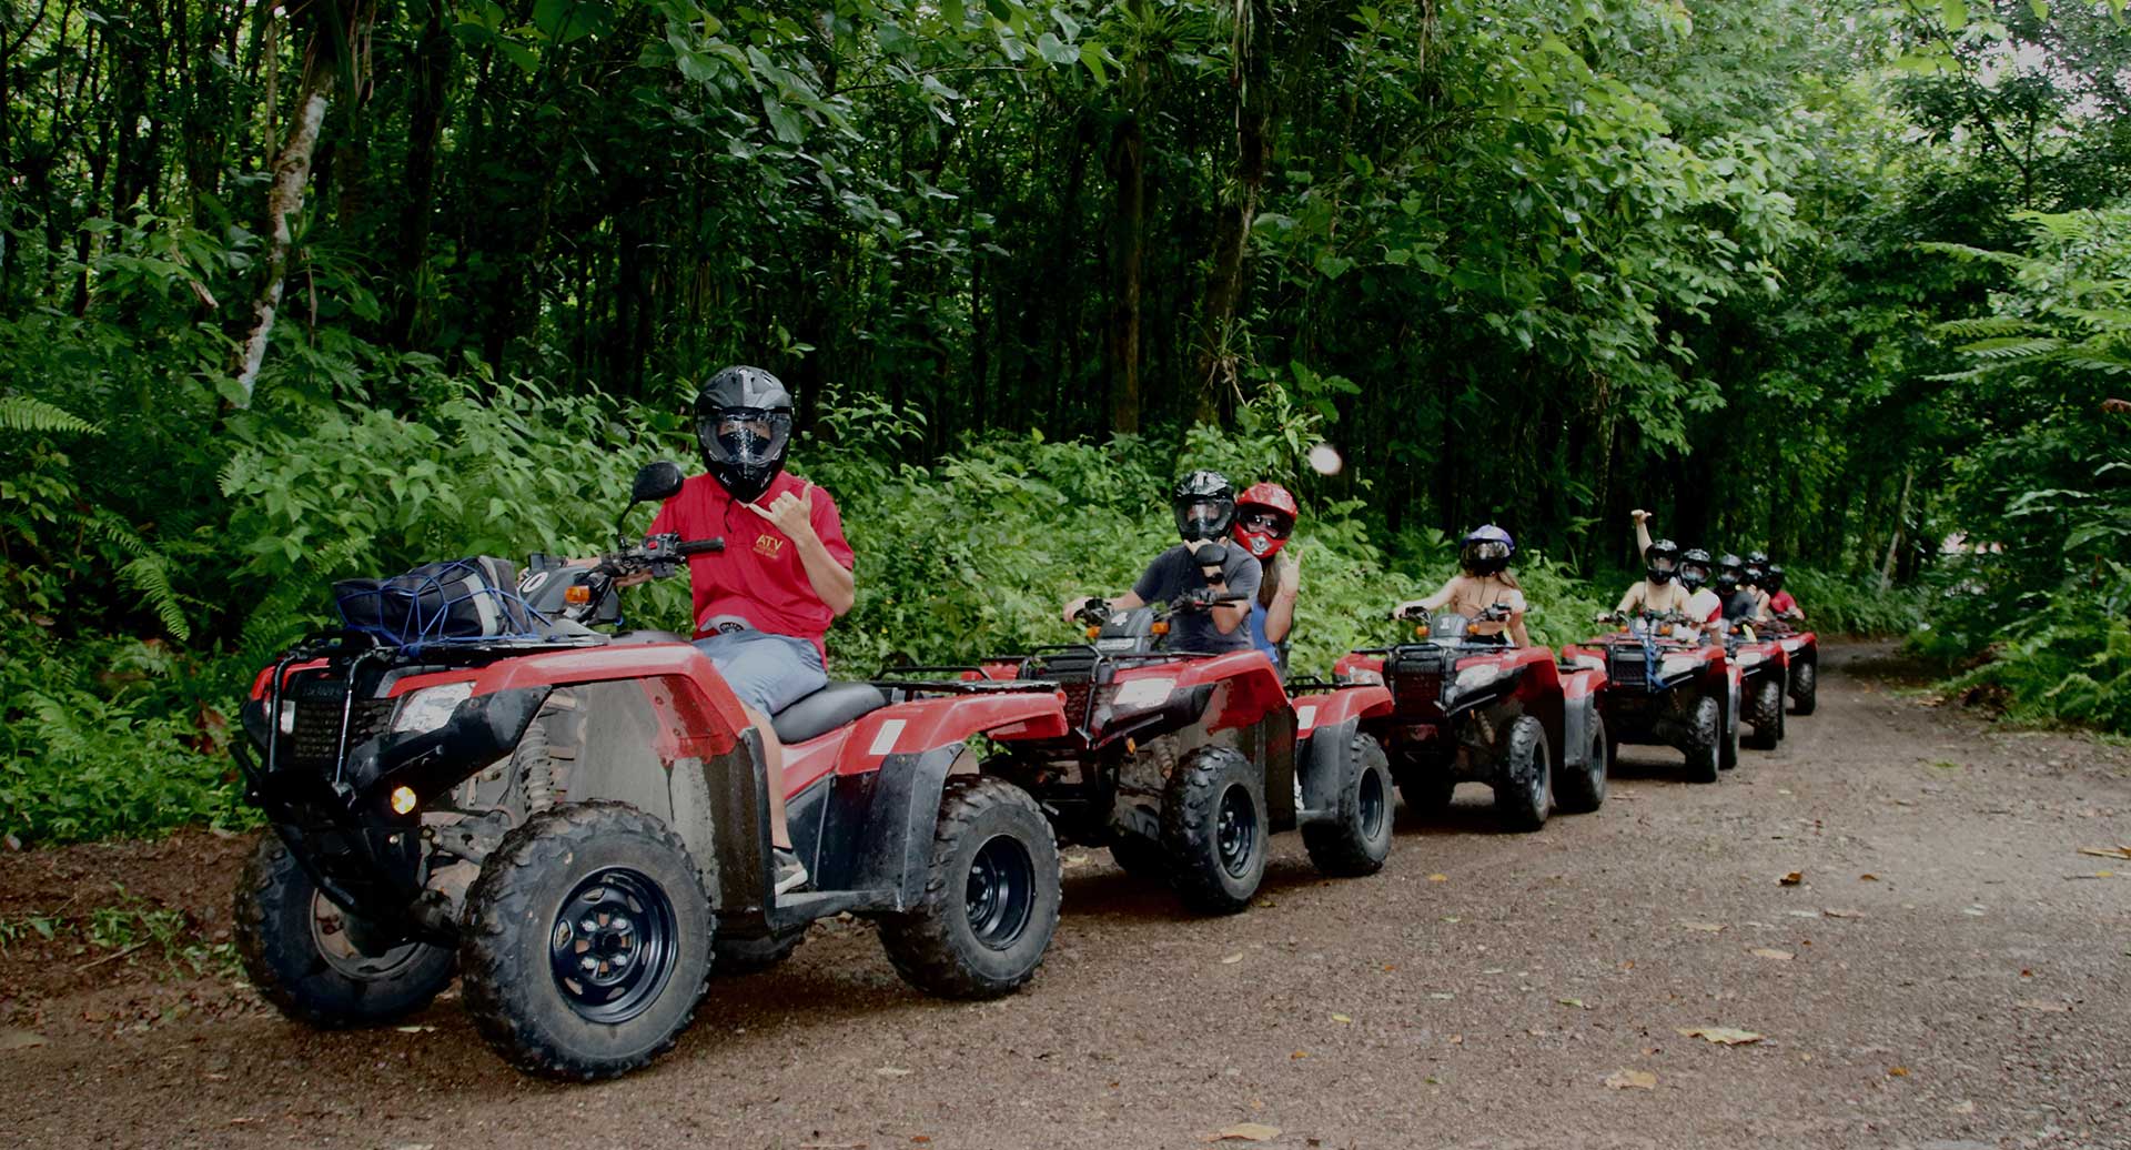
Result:
[[[1289,701],[1259,652],[1166,650],[1170,611],[1232,601],[1117,613],[1097,601],[1080,613],[1087,643],[982,669],[1066,692],[1066,730],[1014,741],[985,773],[1036,794],[1063,839],[1108,843],[1119,867],[1168,880],[1206,914],[1251,905],[1274,831],[1300,828],[1328,875],[1374,873],[1392,850],[1392,775],[1360,730],[1381,696]]]

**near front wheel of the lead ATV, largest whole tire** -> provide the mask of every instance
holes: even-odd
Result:
[[[467,1014],[531,1073],[588,1082],[648,1065],[703,999],[714,884],[627,803],[533,816],[467,892]]]

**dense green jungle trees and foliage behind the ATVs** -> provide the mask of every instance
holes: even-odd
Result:
[[[1481,520],[1577,637],[1649,507],[2131,730],[2127,113],[2122,0],[6,0],[0,828],[243,818],[332,579],[599,545],[725,362],[855,673],[1059,639],[1221,466],[1298,667]]]

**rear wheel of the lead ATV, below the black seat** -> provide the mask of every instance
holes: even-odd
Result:
[[[904,982],[942,999],[995,999],[1044,963],[1059,924],[1059,848],[1029,792],[955,777],[940,801],[925,897],[880,920]]]

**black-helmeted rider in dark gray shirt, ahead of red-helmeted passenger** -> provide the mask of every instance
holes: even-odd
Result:
[[[1242,547],[1221,543],[1236,518],[1236,488],[1217,471],[1193,471],[1176,483],[1170,509],[1176,511],[1176,532],[1185,541],[1155,556],[1155,562],[1149,562],[1146,571],[1140,573],[1140,581],[1123,596],[1112,598],[1110,607],[1129,611],[1149,603],[1170,603],[1185,594],[1208,601],[1234,594],[1238,596],[1234,603],[1170,613],[1166,647],[1202,654],[1251,650],[1251,632],[1242,620],[1251,609],[1251,596],[1257,594],[1262,564]],[[1223,552],[1219,566],[1200,566],[1198,552],[1202,547]],[[1089,598],[1066,603],[1066,622],[1072,622],[1074,611],[1087,603]]]

